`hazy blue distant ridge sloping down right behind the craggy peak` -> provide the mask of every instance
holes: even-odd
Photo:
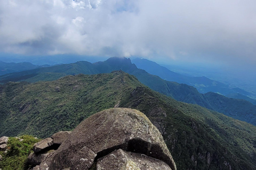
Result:
[[[222,95],[229,95],[239,92],[240,94],[245,96],[252,95],[250,94],[250,92],[247,92],[245,90],[239,88],[230,88],[227,84],[208,79],[204,76],[189,77],[187,75],[175,73],[173,71],[170,71],[166,67],[163,67],[147,59],[134,58],[132,60],[132,63],[134,63],[139,69],[143,69],[150,74],[157,75],[164,80],[185,83],[189,86],[193,86],[202,94],[206,92],[216,92]]]

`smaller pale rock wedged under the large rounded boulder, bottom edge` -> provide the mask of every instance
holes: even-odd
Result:
[[[97,170],[103,169],[171,170],[170,166],[168,166],[161,160],[151,158],[143,154],[126,152],[122,149],[115,150],[107,156],[98,159]]]

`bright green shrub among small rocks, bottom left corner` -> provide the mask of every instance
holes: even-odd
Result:
[[[7,153],[0,151],[0,155],[3,156],[3,160],[0,161],[0,168],[3,170],[27,170],[26,162],[28,155],[33,151],[33,146],[38,141],[38,139],[30,135],[9,138]]]

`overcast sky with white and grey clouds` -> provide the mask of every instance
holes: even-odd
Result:
[[[0,0],[0,53],[256,66],[255,6],[255,0]]]

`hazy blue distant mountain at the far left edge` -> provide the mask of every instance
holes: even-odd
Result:
[[[28,62],[23,63],[5,63],[0,61],[0,75],[4,75],[7,73],[20,72],[25,70],[33,70],[39,67],[47,67],[50,65],[34,65]]]

